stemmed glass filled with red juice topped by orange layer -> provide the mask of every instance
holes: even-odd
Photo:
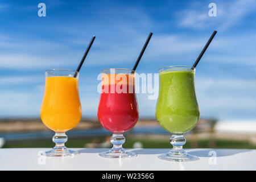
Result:
[[[100,153],[105,158],[131,158],[133,152],[123,150],[123,133],[137,123],[139,110],[135,94],[135,72],[131,69],[111,68],[102,70],[102,90],[98,106],[98,119],[105,129],[113,133],[113,144],[107,152]]]

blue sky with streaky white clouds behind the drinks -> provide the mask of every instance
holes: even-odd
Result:
[[[46,3],[46,17],[38,3]],[[208,15],[209,3],[217,16]],[[202,118],[256,119],[256,2],[247,1],[0,1],[0,117],[39,117],[44,71],[80,71],[83,117],[97,117],[98,73],[132,68],[149,32],[154,35],[138,73],[192,65],[213,30],[218,33],[196,69]],[[141,117],[156,100],[138,94]]]

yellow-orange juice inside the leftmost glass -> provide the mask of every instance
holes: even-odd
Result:
[[[73,129],[82,115],[78,79],[65,76],[46,77],[40,115],[44,125],[55,132],[63,133]]]

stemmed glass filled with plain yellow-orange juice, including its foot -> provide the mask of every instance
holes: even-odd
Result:
[[[82,109],[79,99],[79,73],[70,69],[46,71],[46,88],[41,106],[41,119],[49,129],[55,131],[52,140],[56,146],[46,156],[72,156],[77,151],[65,147],[66,131],[79,123]]]

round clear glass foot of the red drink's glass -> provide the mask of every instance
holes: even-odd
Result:
[[[133,158],[137,156],[134,152],[128,152],[128,151],[114,151],[114,150],[109,150],[108,152],[102,152],[99,154],[103,158]]]

